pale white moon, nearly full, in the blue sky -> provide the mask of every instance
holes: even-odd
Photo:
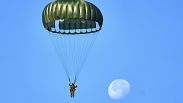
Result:
[[[130,92],[130,84],[123,79],[116,79],[111,82],[108,88],[109,96],[112,99],[121,99]]]

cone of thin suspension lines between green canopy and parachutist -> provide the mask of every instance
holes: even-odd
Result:
[[[97,34],[50,34],[69,80],[76,83]]]

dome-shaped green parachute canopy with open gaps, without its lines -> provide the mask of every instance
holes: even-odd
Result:
[[[59,34],[88,34],[100,31],[103,16],[100,10],[84,0],[56,0],[43,10],[45,29]]]

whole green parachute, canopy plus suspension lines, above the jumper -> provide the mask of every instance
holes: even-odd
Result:
[[[56,0],[44,8],[42,21],[69,82],[75,83],[102,28],[102,13],[84,0]]]

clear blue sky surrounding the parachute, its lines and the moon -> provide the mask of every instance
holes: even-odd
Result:
[[[69,97],[63,67],[41,21],[51,0],[1,1],[1,103],[182,103],[183,1],[89,0],[104,25]],[[121,100],[110,82],[132,88]]]

